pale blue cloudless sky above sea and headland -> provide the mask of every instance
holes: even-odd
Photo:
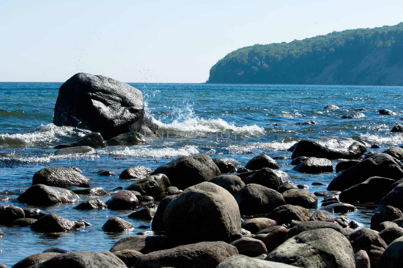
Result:
[[[403,21],[403,1],[0,0],[0,81],[203,83],[229,52]]]

